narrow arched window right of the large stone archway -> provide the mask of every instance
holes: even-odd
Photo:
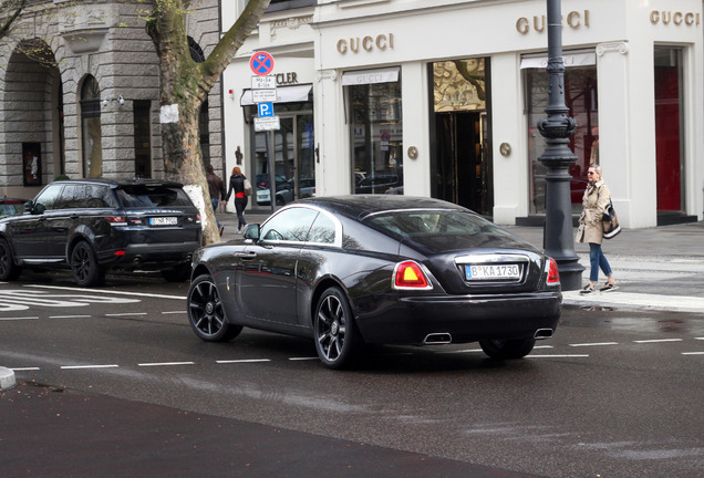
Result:
[[[103,175],[103,135],[101,132],[101,90],[93,76],[81,89],[81,137],[83,177]]]

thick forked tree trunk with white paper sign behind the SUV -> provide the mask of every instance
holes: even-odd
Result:
[[[259,23],[271,0],[249,0],[235,24],[220,38],[201,63],[190,58],[186,17],[190,0],[154,0],[147,15],[146,31],[159,58],[162,142],[167,179],[195,186],[210,205],[208,184],[199,148],[198,112],[208,92]],[[205,207],[206,243],[218,242],[219,233],[213,208]]]

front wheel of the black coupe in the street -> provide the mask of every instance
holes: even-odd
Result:
[[[190,283],[186,308],[190,328],[206,342],[226,342],[242,331],[241,325],[227,322],[220,293],[210,276],[198,276]]]

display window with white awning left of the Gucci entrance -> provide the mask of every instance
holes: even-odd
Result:
[[[345,73],[355,194],[400,193],[403,123],[398,69]]]

